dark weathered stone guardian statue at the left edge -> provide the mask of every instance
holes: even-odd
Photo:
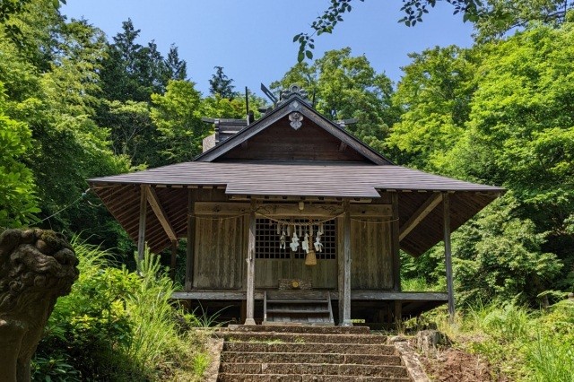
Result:
[[[51,230],[0,235],[0,382],[30,381],[30,359],[59,296],[78,278],[78,259]]]

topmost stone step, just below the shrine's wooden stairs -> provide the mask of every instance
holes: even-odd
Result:
[[[306,326],[306,325],[230,325],[222,332],[248,333],[309,333],[309,334],[370,334],[369,326]]]

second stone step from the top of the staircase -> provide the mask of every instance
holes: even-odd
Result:
[[[323,329],[329,329],[331,326],[313,326],[313,328],[322,332]],[[222,336],[225,341],[240,343],[387,343],[387,336],[380,334],[219,332],[218,335]]]

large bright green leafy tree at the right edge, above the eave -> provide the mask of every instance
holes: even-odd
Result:
[[[514,189],[521,215],[559,241],[572,240],[565,221],[574,210],[573,38],[569,22],[492,47],[478,69],[468,131],[447,156],[473,178]],[[552,251],[574,255],[561,246]]]

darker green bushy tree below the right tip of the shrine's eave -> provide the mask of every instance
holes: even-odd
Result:
[[[459,304],[500,298],[531,302],[552,287],[563,266],[544,253],[544,233],[533,221],[513,217],[517,201],[506,195],[455,234],[455,275]],[[477,275],[480,275],[477,277]]]

